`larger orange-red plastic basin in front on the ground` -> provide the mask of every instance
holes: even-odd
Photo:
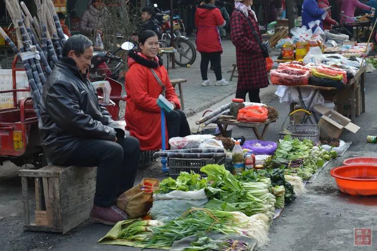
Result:
[[[338,189],[350,195],[377,195],[377,166],[345,165],[334,168],[330,175]]]

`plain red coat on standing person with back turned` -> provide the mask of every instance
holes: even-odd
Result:
[[[199,52],[223,51],[221,47],[218,26],[224,25],[225,20],[219,9],[213,5],[197,8],[195,26],[197,27],[197,50]]]

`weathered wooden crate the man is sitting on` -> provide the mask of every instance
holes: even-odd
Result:
[[[24,228],[32,231],[72,230],[89,217],[96,191],[97,168],[48,165],[39,170],[20,170],[24,201]],[[34,223],[28,198],[28,179],[34,178]]]

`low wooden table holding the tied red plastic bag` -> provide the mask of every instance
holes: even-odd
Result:
[[[248,123],[248,122],[240,122],[240,121],[237,121],[236,119],[231,119],[231,120],[218,119],[214,123],[217,124],[217,126],[219,127],[220,132],[223,136],[226,135],[226,130],[228,128],[228,125],[233,125],[233,126],[238,126],[238,127],[252,128],[256,138],[263,140],[269,124],[272,123],[272,122],[275,122],[275,121],[276,121],[276,119],[273,119],[273,120],[267,119],[263,123]],[[261,135],[259,134],[258,129],[257,129],[257,127],[260,127],[260,126],[263,126],[263,131],[262,131]]]

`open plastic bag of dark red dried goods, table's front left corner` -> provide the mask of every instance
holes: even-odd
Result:
[[[269,74],[274,85],[297,86],[308,85],[310,71],[287,68],[271,70]]]

